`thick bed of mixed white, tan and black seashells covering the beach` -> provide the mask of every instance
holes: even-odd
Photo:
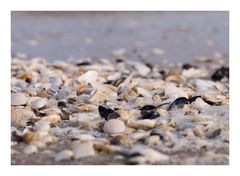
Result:
[[[12,164],[228,164],[228,79],[220,65],[13,58]]]

